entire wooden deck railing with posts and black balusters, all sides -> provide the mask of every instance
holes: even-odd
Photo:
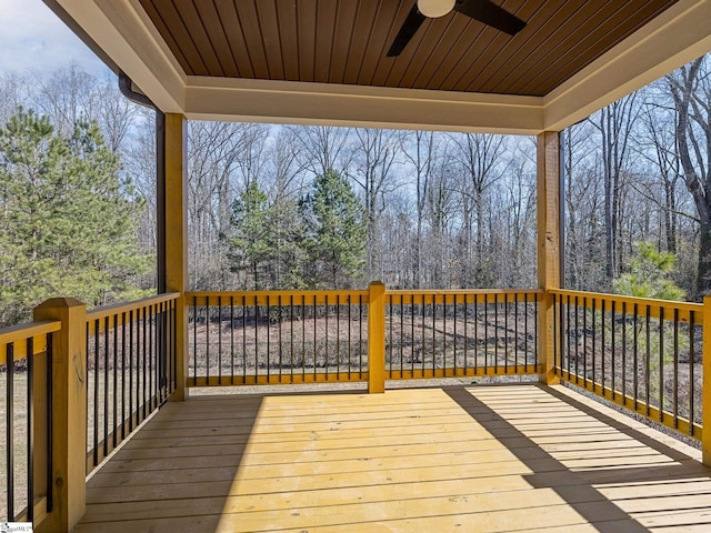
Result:
[[[184,386],[363,381],[380,392],[387,379],[549,376],[541,346],[551,344],[552,375],[700,440],[709,464],[710,310],[711,298],[381,283],[166,294],[89,313],[50,300],[34,323],[0,330],[0,520],[70,530],[86,509],[87,473]]]

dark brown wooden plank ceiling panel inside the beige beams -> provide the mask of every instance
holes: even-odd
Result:
[[[188,76],[545,95],[675,0],[494,0],[515,37],[461,13],[385,53],[413,0],[140,0]]]

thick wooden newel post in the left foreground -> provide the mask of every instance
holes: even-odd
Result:
[[[54,298],[34,320],[59,320],[52,338],[52,512],[38,531],[71,530],[87,510],[87,308]]]

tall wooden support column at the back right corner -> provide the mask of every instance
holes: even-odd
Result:
[[[550,289],[560,288],[560,139],[555,131],[537,138],[538,159],[538,286],[543,289],[538,311],[538,362],[540,381],[557,384],[553,373],[553,298]]]

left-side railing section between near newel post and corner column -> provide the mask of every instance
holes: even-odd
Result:
[[[177,300],[87,313],[87,473],[176,390]]]

